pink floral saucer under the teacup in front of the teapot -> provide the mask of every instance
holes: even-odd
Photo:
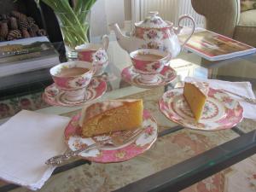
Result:
[[[145,84],[140,80],[140,74],[136,72],[133,66],[125,67],[121,73],[122,79],[127,83],[137,87],[151,89],[158,86],[169,84],[173,79],[177,77],[177,74],[172,67],[165,66],[160,74],[157,74],[157,81],[153,84]]]

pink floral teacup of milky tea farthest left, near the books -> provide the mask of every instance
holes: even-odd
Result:
[[[69,61],[50,68],[49,73],[58,89],[65,91],[65,99],[75,102],[86,96],[95,68],[91,62]]]

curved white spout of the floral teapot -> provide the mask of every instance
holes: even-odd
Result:
[[[113,23],[109,25],[111,29],[113,29],[113,32],[115,33],[115,36],[117,38],[117,41],[122,49],[125,49],[128,52],[131,52],[130,44],[131,44],[131,38],[128,36],[125,36],[117,23]]]

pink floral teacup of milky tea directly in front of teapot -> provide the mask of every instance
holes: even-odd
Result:
[[[145,84],[152,84],[157,81],[157,74],[171,60],[169,52],[158,49],[139,49],[130,53],[133,67],[141,75],[141,81]]]

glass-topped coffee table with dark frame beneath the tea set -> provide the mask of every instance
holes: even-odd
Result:
[[[121,71],[131,65],[131,60],[114,40],[109,44],[108,56],[109,65],[102,75],[102,79],[107,80],[108,91],[99,101],[142,98],[144,108],[153,114],[158,124],[156,142],[145,153],[124,162],[100,164],[78,158],[70,160],[55,169],[40,191],[179,191],[255,154],[256,122],[252,119],[243,119],[228,130],[195,131],[166,119],[160,113],[158,102],[166,90],[172,90],[186,76],[249,81],[255,91],[256,55],[210,62],[183,52],[170,64],[177,72],[177,79],[153,89],[138,88],[121,79]],[[51,79],[26,94],[1,96],[0,122],[20,109],[68,117],[79,113],[81,107],[46,104],[41,94],[49,84]],[[30,191],[0,180],[0,192],[9,190]]]

